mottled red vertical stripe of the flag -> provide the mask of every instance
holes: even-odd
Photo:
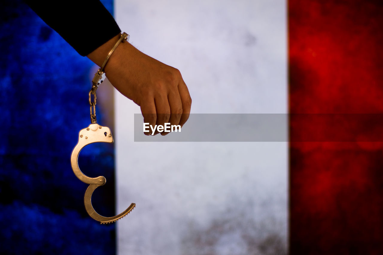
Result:
[[[290,113],[383,113],[383,3],[290,0],[288,8]],[[302,119],[290,128],[316,127]],[[291,142],[290,254],[383,253],[382,149]]]

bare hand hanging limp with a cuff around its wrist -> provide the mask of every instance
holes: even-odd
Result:
[[[119,35],[87,57],[101,66],[118,39]],[[164,123],[183,126],[189,118],[191,98],[181,73],[140,52],[130,43],[117,46],[105,66],[105,74],[121,94],[141,107],[145,123],[153,127]]]

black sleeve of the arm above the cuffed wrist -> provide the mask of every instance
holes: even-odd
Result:
[[[87,56],[121,32],[99,0],[25,2],[81,56]]]

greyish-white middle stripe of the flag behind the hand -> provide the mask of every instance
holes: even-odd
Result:
[[[181,71],[192,113],[287,112],[285,1],[115,0],[115,17]],[[286,253],[287,143],[133,142],[133,113],[116,93],[117,210],[137,204],[119,254]]]

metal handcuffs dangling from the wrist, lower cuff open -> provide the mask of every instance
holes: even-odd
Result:
[[[101,224],[118,221],[122,217],[126,216],[126,214],[131,212],[133,208],[136,207],[136,204],[131,203],[131,205],[125,211],[113,217],[104,217],[98,214],[92,206],[92,194],[97,187],[102,186],[106,183],[106,178],[103,176],[91,178],[84,175],[79,168],[78,159],[79,159],[80,151],[82,150],[83,147],[85,147],[88,144],[92,144],[94,142],[113,143],[113,136],[111,134],[110,128],[103,127],[97,124],[96,107],[95,107],[97,103],[96,90],[98,86],[100,86],[100,84],[105,80],[104,68],[111,54],[116,49],[119,43],[129,41],[129,37],[130,37],[129,34],[127,33],[123,33],[121,35],[121,37],[119,38],[115,46],[113,46],[113,48],[109,52],[103,65],[101,66],[100,69],[98,69],[98,71],[95,74],[95,77],[92,80],[92,88],[89,91],[91,124],[88,127],[80,130],[79,141],[77,142],[76,146],[74,147],[72,151],[72,155],[70,156],[70,163],[72,165],[72,170],[74,174],[76,175],[76,177],[79,178],[80,181],[89,184],[84,195],[85,209],[88,212],[90,217],[92,217],[96,221],[99,221]]]

